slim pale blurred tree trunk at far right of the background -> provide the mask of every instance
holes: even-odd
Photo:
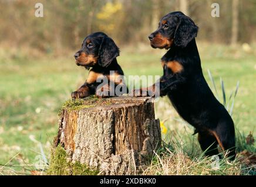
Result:
[[[238,14],[239,0],[232,1],[232,30],[231,30],[231,45],[235,46],[238,41]]]

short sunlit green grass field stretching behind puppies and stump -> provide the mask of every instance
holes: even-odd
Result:
[[[204,44],[199,50],[207,82],[211,86],[207,74],[209,69],[220,95],[220,77],[224,81],[227,95],[235,89],[237,81],[240,81],[233,119],[235,126],[244,133],[244,136],[252,131],[255,137],[255,54],[224,46],[204,47]],[[117,60],[125,74],[161,75],[160,57],[164,51],[140,49],[138,51],[140,52],[135,53],[134,50],[124,49],[118,57]],[[49,160],[50,145],[58,129],[58,110],[62,103],[70,98],[70,93],[85,81],[87,71],[75,65],[72,53],[56,58],[52,56],[28,58],[19,53],[5,57],[4,54],[6,51],[1,50],[0,164],[5,166],[0,165],[0,174],[29,174],[29,169],[35,169],[35,164],[38,163],[37,156],[41,155],[42,150]],[[167,128],[167,133],[163,134],[166,141],[170,141],[170,136],[175,133],[191,139],[192,127],[177,116],[166,98],[161,98],[156,103],[156,116]],[[196,146],[199,150],[198,144]],[[189,146],[186,148],[188,151],[193,150]],[[255,153],[255,146],[250,149]],[[167,157],[168,159],[171,157]],[[22,167],[23,165],[26,167]],[[7,169],[8,173],[4,172],[4,169]],[[203,170],[191,171],[191,174],[208,174]],[[156,172],[146,171],[145,174],[156,174]],[[172,173],[160,172],[160,174]]]

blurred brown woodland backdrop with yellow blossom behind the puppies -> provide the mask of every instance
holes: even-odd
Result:
[[[256,40],[255,0],[41,0],[43,18],[34,15],[36,2],[0,0],[0,46],[61,52],[77,49],[96,31],[120,46],[134,46],[148,41],[161,16],[178,10],[200,27],[198,40],[234,45]],[[220,5],[220,18],[211,17],[214,2]]]

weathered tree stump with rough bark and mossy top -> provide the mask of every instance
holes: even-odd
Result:
[[[66,150],[69,162],[99,174],[137,174],[161,144],[152,101],[132,96],[69,100],[59,113],[54,146]]]

